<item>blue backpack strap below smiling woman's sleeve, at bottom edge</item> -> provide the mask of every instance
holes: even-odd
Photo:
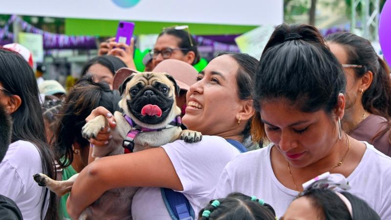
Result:
[[[194,220],[195,214],[189,200],[172,189],[160,188],[164,204],[173,220]]]

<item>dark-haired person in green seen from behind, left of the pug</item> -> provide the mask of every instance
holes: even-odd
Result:
[[[117,103],[121,99],[117,90],[110,90],[106,83],[94,83],[91,76],[80,79],[65,96],[63,107],[57,114],[54,128],[54,151],[56,160],[63,168],[62,180],[80,173],[88,164],[89,142],[82,137],[82,127],[86,117],[98,106],[111,113],[119,110]],[[60,217],[70,219],[66,212],[66,199],[61,197]]]

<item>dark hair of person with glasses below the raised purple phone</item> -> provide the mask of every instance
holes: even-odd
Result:
[[[82,75],[86,75],[89,67],[91,67],[94,64],[100,64],[106,66],[113,75],[118,69],[122,67],[127,67],[126,64],[118,57],[114,57],[111,55],[104,55],[104,56],[94,57],[91,60],[89,60],[82,68]]]

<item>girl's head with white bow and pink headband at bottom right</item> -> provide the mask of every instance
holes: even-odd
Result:
[[[322,174],[303,188],[280,220],[380,220],[367,202],[346,192],[350,185],[341,174]]]

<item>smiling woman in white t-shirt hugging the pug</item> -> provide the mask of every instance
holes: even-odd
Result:
[[[189,216],[196,215],[213,196],[224,166],[239,154],[230,143],[241,145],[249,135],[250,118],[255,112],[251,85],[257,64],[246,54],[224,54],[213,59],[188,90],[189,106],[182,119],[188,129],[203,134],[202,140],[194,144],[177,140],[159,148],[92,162],[72,188],[68,199],[71,216],[77,218],[105,191],[125,186],[143,187],[132,201],[133,220],[172,219],[170,214],[176,210],[169,213],[161,188],[157,187],[183,193],[190,202]],[[248,86],[239,88],[240,85]],[[106,113],[98,109],[93,115]],[[108,136],[101,132],[90,142],[101,145]]]

